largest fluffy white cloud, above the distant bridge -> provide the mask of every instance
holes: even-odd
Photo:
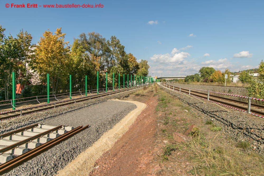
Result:
[[[171,52],[171,54],[155,54],[150,59],[154,62],[158,63],[179,63],[185,60],[188,56],[190,56],[189,53],[180,52],[177,48],[174,48]]]

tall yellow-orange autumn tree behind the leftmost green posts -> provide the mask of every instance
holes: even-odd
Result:
[[[52,94],[58,91],[59,85],[67,85],[69,70],[73,65],[69,42],[64,42],[65,34],[61,32],[61,28],[57,28],[54,33],[53,35],[49,29],[43,33],[30,62],[31,68],[44,79],[43,82],[46,74],[50,74]]]

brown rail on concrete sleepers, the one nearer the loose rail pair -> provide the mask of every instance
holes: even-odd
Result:
[[[2,148],[2,149],[0,149],[0,154],[4,153],[4,152],[6,152],[6,151],[12,150],[12,149],[16,148],[17,146],[20,146],[20,145],[26,144],[26,143],[28,143],[28,142],[31,142],[32,140],[35,140],[35,139],[37,139],[37,138],[39,138],[39,137],[41,137],[41,136],[44,136],[44,135],[46,135],[46,134],[49,134],[49,133],[51,133],[51,132],[53,132],[53,131],[56,131],[56,130],[58,130],[58,129],[60,129],[60,128],[62,128],[62,125],[57,126],[57,127],[53,128],[53,129],[47,130],[47,131],[45,131],[45,132],[42,132],[42,133],[40,133],[40,134],[37,134],[37,135],[35,135],[35,136],[29,137],[29,138],[27,138],[27,139],[25,139],[25,140],[19,141],[19,142],[15,143],[15,144],[12,144],[12,145],[7,146],[7,147],[5,147],[5,148]]]

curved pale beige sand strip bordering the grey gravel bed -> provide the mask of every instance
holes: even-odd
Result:
[[[146,104],[136,101],[115,100],[120,102],[129,102],[137,106],[136,109],[126,115],[111,130],[107,131],[97,140],[91,147],[83,151],[64,169],[59,170],[57,176],[74,176],[86,175],[93,169],[94,162],[107,150],[109,150],[115,142],[126,133],[129,127],[134,123],[137,116],[144,110]]]

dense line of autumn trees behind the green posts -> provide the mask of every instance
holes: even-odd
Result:
[[[123,84],[123,74],[127,83],[127,74],[148,76],[148,61],[139,63],[133,54],[125,52],[116,36],[109,40],[96,32],[82,33],[73,44],[64,41],[66,34],[57,28],[54,34],[45,31],[37,44],[31,44],[32,36],[20,30],[16,37],[5,36],[5,29],[0,25],[0,99],[11,99],[12,72],[16,74],[16,84],[26,86],[23,97],[46,95],[47,74],[50,77],[50,93],[69,92],[69,75],[72,75],[72,92],[96,89],[97,71],[99,88],[112,86],[114,73],[115,86]],[[121,81],[122,80],[122,81]],[[108,86],[108,87],[111,87]],[[18,88],[19,89],[19,88]]]

